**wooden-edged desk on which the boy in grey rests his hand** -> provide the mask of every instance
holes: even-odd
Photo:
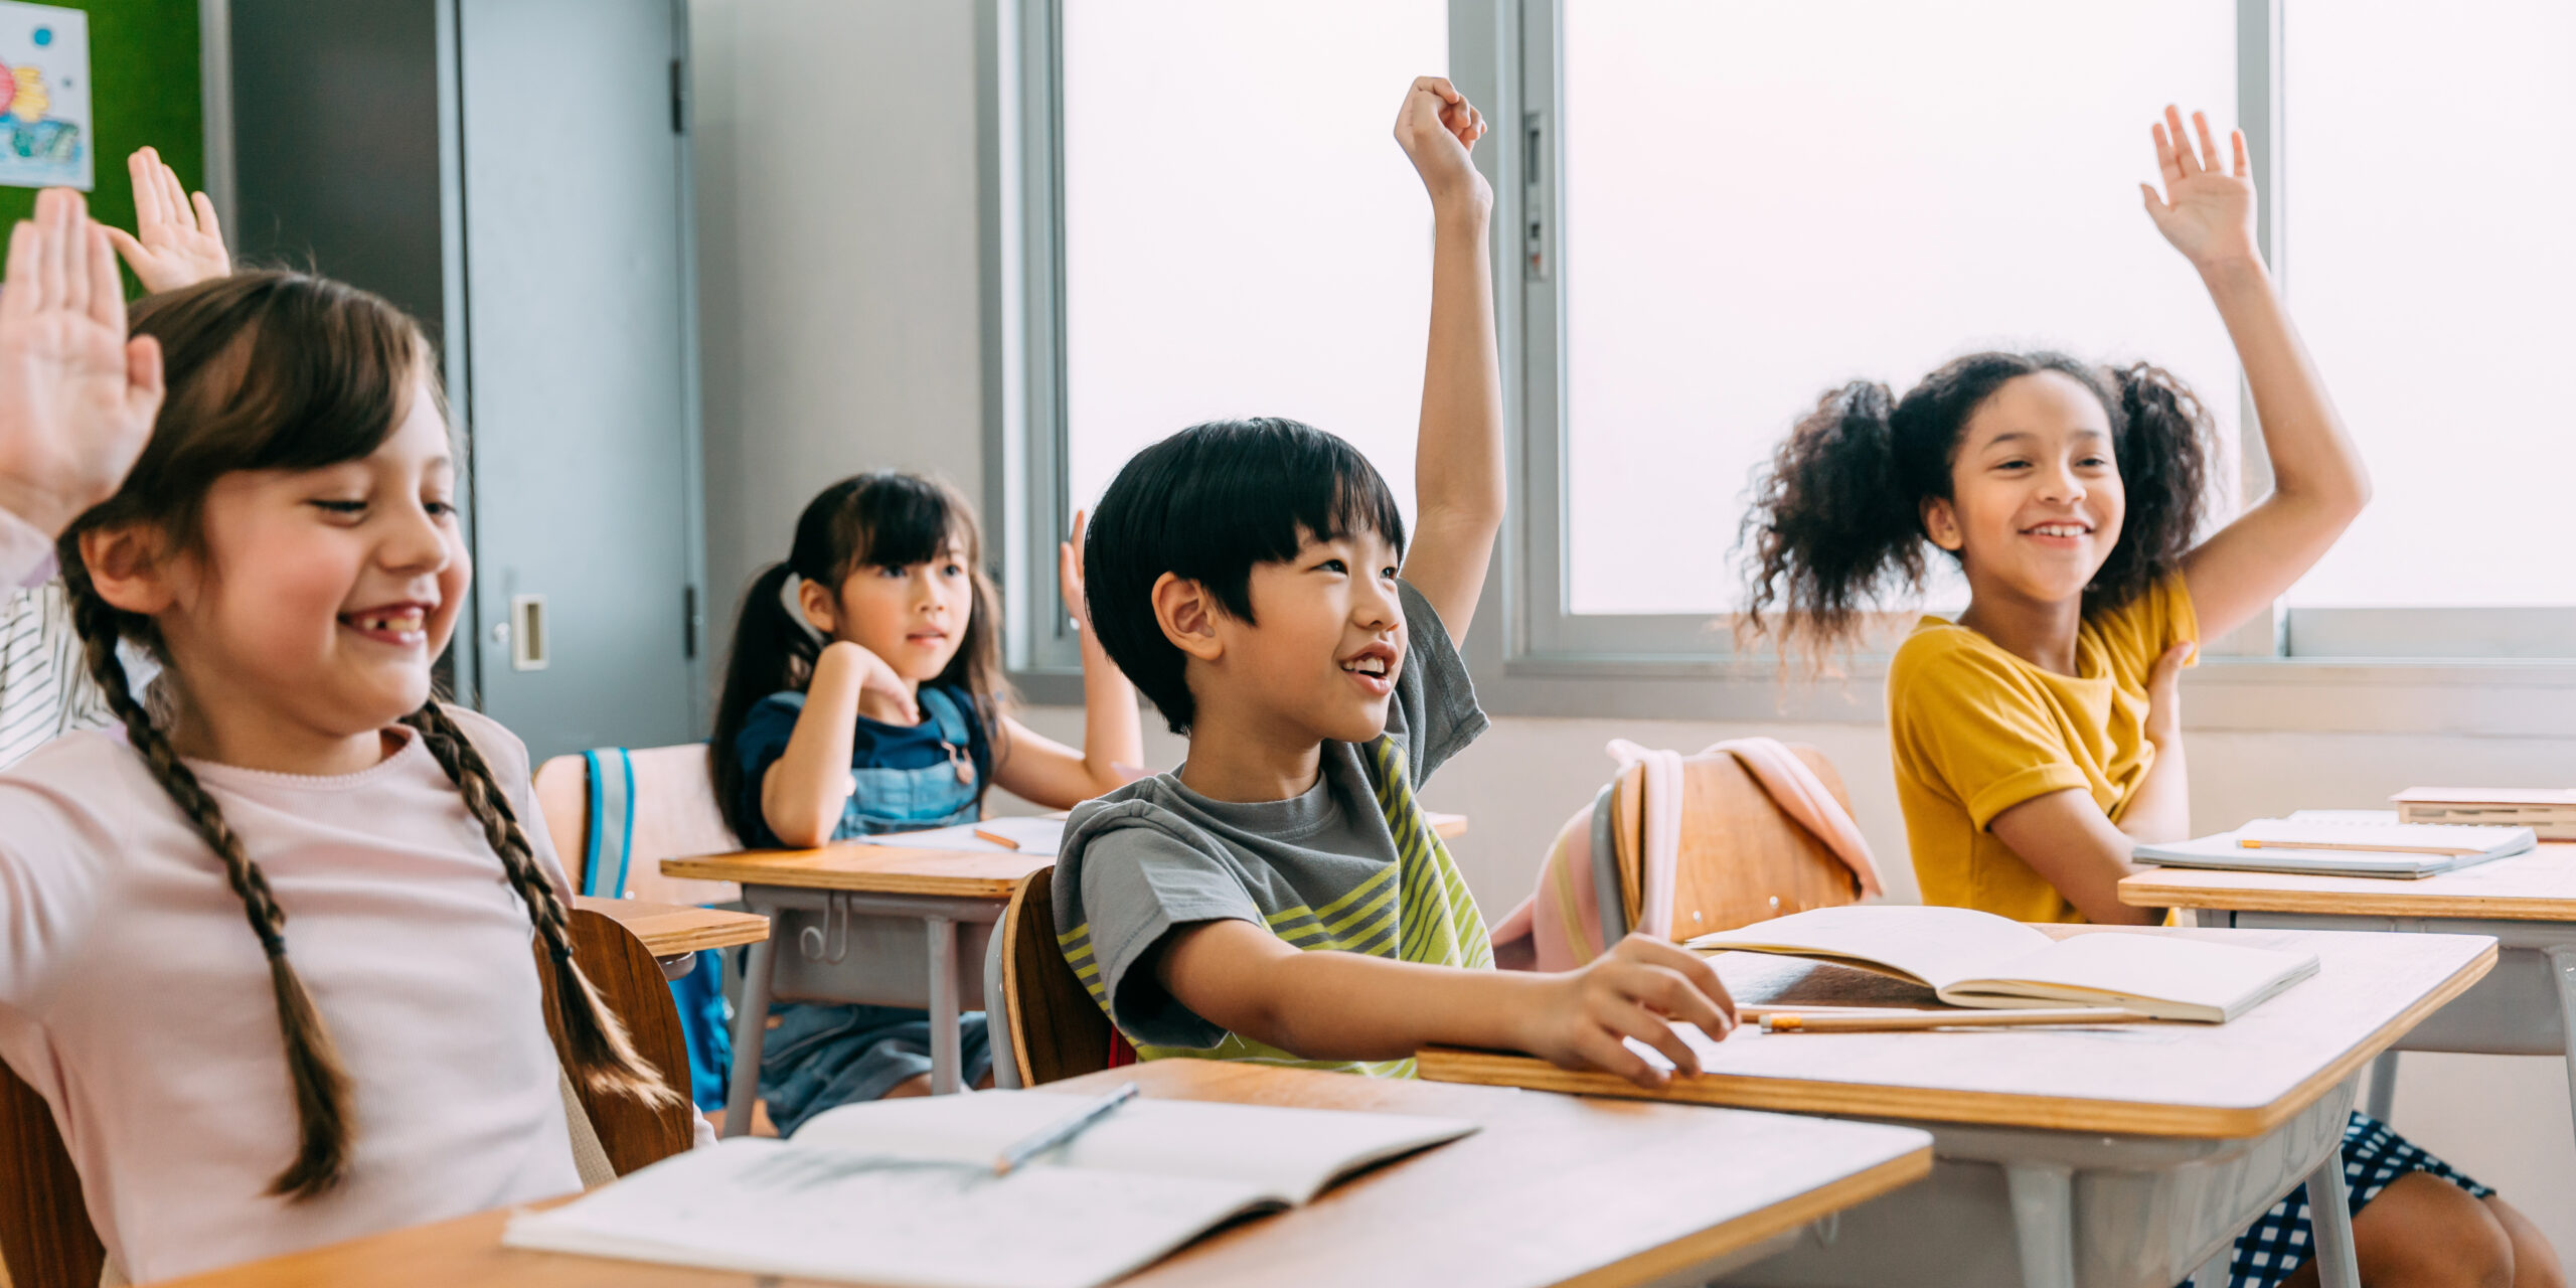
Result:
[[[1932,1131],[1929,1185],[1839,1221],[1728,1283],[2172,1288],[2300,1180],[2318,1195],[2318,1270],[2352,1288],[2342,1136],[2362,1064],[2478,981],[2496,943],[2476,935],[2303,930],[2097,930],[2213,938],[2316,953],[2318,974],[2226,1025],[1950,1033],[1739,1030],[1703,1048],[1700,1077],[1659,1097]],[[1906,987],[1795,958],[1713,958],[1736,1002],[1852,999]],[[1878,997],[1873,997],[1875,1002]],[[1492,1051],[1422,1051],[1422,1077],[1556,1092],[1649,1095]],[[2334,1198],[2329,1198],[2329,1193]],[[2223,1270],[2223,1262],[2221,1262]],[[2205,1275],[2197,1283],[2213,1283]],[[2215,1283],[2223,1283],[2215,1280]]]

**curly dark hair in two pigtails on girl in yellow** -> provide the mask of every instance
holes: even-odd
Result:
[[[1950,500],[1950,461],[1968,417],[2017,376],[2056,371],[2102,399],[2128,518],[2084,587],[2084,613],[2120,608],[2169,577],[2200,531],[2208,412],[2172,371],[2097,366],[2066,353],[1971,353],[1899,399],[1875,381],[1844,384],[1798,420],[1754,474],[1736,549],[1749,551],[1747,639],[1821,657],[1852,641],[1880,595],[1919,592],[1927,500]]]

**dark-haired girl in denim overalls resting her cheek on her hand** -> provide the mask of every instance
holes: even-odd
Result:
[[[742,598],[708,762],[744,845],[806,848],[974,822],[984,788],[1066,809],[1144,757],[1136,690],[1082,634],[1084,744],[1002,714],[997,603],[966,500],[917,474],[858,474],[796,520],[796,546]],[[1082,611],[1077,536],[1064,603]],[[760,1097],[781,1133],[832,1105],[922,1095],[930,1018],[907,1007],[778,1005]],[[961,1018],[961,1074],[984,1082],[984,1015]]]

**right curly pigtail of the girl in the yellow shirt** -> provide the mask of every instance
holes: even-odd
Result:
[[[2084,611],[2117,608],[2172,577],[2200,533],[2208,487],[2208,410],[2172,371],[2130,363],[2107,371],[2120,484],[2128,520],[2102,572],[2084,587]]]

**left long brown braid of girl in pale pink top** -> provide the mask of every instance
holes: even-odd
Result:
[[[294,963],[286,961],[286,909],[278,907],[276,894],[268,889],[268,876],[242,850],[242,837],[224,822],[224,811],[214,804],[214,796],[180,762],[170,739],[152,724],[152,714],[134,701],[134,688],[126,683],[126,665],[116,657],[121,613],[98,598],[88,569],[77,559],[64,562],[64,582],[72,592],[72,626],[88,649],[90,677],[98,680],[98,690],[108,698],[108,711],[124,721],[134,755],[144,757],[152,778],[160,781],[180,814],[188,817],[196,835],[224,860],[232,894],[242,899],[250,930],[260,935],[260,951],[268,953],[268,984],[278,997],[278,1028],[286,1036],[286,1074],[296,1090],[296,1162],[286,1164],[268,1182],[268,1193],[286,1195],[294,1203],[319,1198],[348,1180],[348,1146],[353,1136],[350,1082],[348,1066],[340,1061],[340,1046],[332,1041],[330,1028],[322,1025],[322,1012],[314,1010],[312,994],[296,979]]]

